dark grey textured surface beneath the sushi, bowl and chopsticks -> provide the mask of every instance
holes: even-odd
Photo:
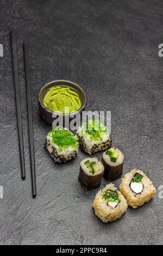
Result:
[[[43,148],[51,129],[39,115],[37,93],[65,79],[87,93],[87,109],[111,111],[111,135],[125,155],[124,173],[141,168],[158,189],[162,180],[163,43],[161,0],[1,0],[0,199],[1,244],[115,245],[162,243],[163,199],[158,193],[115,223],[92,211],[97,190],[78,184],[85,154],[58,166]],[[27,179],[21,180],[9,31],[17,30]],[[30,183],[22,41],[30,42],[37,198]],[[96,154],[101,157],[101,153]],[[115,184],[118,186],[121,179]],[[105,186],[106,181],[102,181]]]

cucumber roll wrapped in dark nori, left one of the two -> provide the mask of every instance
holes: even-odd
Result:
[[[101,185],[104,166],[97,157],[89,157],[80,162],[79,183],[85,188],[96,188]]]

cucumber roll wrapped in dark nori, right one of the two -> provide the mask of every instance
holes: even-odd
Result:
[[[120,178],[123,173],[123,161],[124,155],[120,149],[113,147],[106,150],[102,156],[104,178],[108,181]]]

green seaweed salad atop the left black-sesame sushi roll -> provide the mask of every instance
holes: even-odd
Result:
[[[52,142],[57,144],[60,150],[70,146],[78,147],[78,138],[74,137],[74,135],[64,127],[58,126],[57,129],[52,129],[48,135],[52,137]]]

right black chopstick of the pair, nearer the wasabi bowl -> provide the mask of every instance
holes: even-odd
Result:
[[[33,133],[33,113],[32,113],[32,100],[30,88],[30,59],[29,47],[24,42],[24,58],[26,69],[26,87],[27,87],[27,108],[28,108],[28,127],[29,127],[29,148],[30,148],[30,168],[32,178],[32,194],[36,197],[36,176],[35,176],[35,157],[34,157],[34,133]]]

